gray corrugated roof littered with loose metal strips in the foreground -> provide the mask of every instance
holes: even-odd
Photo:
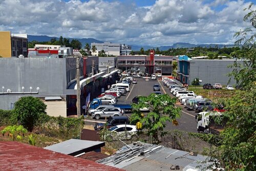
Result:
[[[202,165],[200,162],[205,161],[207,156],[197,155],[191,156],[189,152],[179,151],[173,148],[167,148],[159,146],[160,148],[156,150],[148,150],[150,148],[156,148],[153,144],[140,143],[140,145],[129,144],[133,148],[131,149],[127,146],[123,146],[120,151],[115,155],[96,161],[99,163],[105,163],[106,165],[123,168],[126,170],[170,170],[170,166],[179,165],[180,170],[183,168],[193,168],[196,169],[197,166]],[[149,151],[141,155],[141,150]],[[136,152],[138,152],[136,154]],[[131,153],[131,154],[130,154]],[[166,159],[167,158],[167,159]],[[122,160],[118,163],[118,160]],[[199,169],[200,170],[200,169]]]

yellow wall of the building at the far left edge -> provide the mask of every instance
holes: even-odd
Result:
[[[11,57],[11,32],[10,31],[0,31],[0,56]]]

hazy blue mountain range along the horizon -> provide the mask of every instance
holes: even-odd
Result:
[[[39,35],[39,36],[36,36],[36,35],[28,35],[28,39],[29,41],[50,41],[52,38],[56,38],[58,39],[58,37],[50,37],[50,36],[46,36],[46,35]],[[92,42],[96,42],[96,43],[102,43],[104,41],[100,41],[100,40],[97,40],[97,39],[94,39],[94,38],[68,38],[70,39],[70,41],[72,39],[77,39],[81,42],[82,44],[82,47],[84,47],[87,43],[89,45],[91,45]],[[222,44],[189,44],[189,43],[186,43],[186,42],[177,42],[175,44],[173,44],[172,46],[158,46],[158,47],[154,47],[154,46],[138,46],[138,45],[131,45],[132,46],[132,50],[133,51],[139,51],[141,48],[144,48],[144,50],[148,50],[148,49],[156,49],[156,48],[159,48],[160,51],[166,51],[168,49],[177,49],[177,48],[194,48],[194,47],[206,47],[206,48],[214,48],[216,46],[218,46],[218,48],[231,48],[231,47],[234,47],[235,45],[222,45]]]

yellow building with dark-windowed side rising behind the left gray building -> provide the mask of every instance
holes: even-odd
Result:
[[[19,55],[28,57],[27,34],[11,34],[10,31],[0,31],[0,55],[2,57],[19,57]]]

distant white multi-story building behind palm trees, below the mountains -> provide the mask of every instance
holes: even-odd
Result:
[[[104,51],[106,55],[129,55],[132,51],[132,47],[128,45],[121,45],[111,42],[103,42],[102,44],[99,43],[92,43],[91,48],[95,46],[96,52],[92,52],[93,55],[98,55],[100,51]]]

